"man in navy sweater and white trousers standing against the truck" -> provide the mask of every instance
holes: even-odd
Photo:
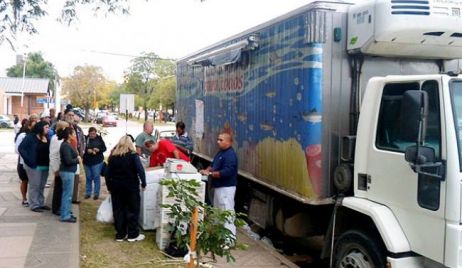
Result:
[[[233,138],[231,134],[222,132],[218,135],[217,143],[220,151],[213,158],[211,166],[200,170],[200,173],[212,179],[212,186],[215,188],[213,206],[234,212],[237,155],[232,147]],[[225,224],[225,227],[236,237],[236,226],[231,221],[232,219]]]

